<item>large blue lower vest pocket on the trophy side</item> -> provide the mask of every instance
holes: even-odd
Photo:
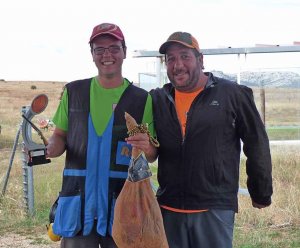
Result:
[[[62,237],[74,237],[81,230],[80,194],[62,196],[60,194],[55,214],[53,231]]]

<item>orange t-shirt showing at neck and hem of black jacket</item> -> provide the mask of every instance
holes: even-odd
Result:
[[[182,129],[182,135],[185,136],[185,127],[186,127],[186,118],[187,113],[189,112],[189,109],[191,107],[192,102],[194,101],[195,97],[203,90],[203,88],[200,88],[199,90],[192,92],[192,93],[185,93],[180,92],[175,89],[175,105],[176,105],[176,111],[177,116],[180,121],[181,129]],[[161,205],[162,208],[178,212],[178,213],[199,213],[199,212],[205,212],[208,211],[208,209],[197,209],[197,210],[185,210],[185,209],[178,209],[178,208],[171,208],[165,205]]]

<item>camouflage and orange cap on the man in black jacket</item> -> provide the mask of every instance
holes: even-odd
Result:
[[[195,49],[198,53],[201,53],[198,41],[190,33],[186,32],[175,32],[171,34],[167,41],[160,46],[159,52],[166,54],[167,48],[174,42]]]

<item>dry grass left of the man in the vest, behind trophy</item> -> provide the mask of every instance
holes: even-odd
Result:
[[[22,121],[21,108],[31,104],[38,94],[49,98],[46,110],[37,118],[51,119],[56,110],[64,83],[62,82],[0,82],[0,190],[8,171],[12,147]],[[35,87],[32,87],[35,86]],[[32,89],[36,88],[36,89]],[[46,137],[51,131],[44,132]],[[36,137],[33,132],[33,138]],[[38,139],[41,143],[41,140]],[[60,187],[63,157],[53,159],[51,164],[34,167],[35,210],[34,218],[28,219],[23,195],[22,136],[18,140],[5,197],[0,196],[0,234],[6,232],[45,234],[50,206],[54,202]],[[0,195],[1,195],[0,192]],[[35,233],[36,232],[36,233]],[[4,242],[4,241],[3,241]],[[43,241],[39,241],[43,243]],[[0,242],[2,243],[2,241]]]

